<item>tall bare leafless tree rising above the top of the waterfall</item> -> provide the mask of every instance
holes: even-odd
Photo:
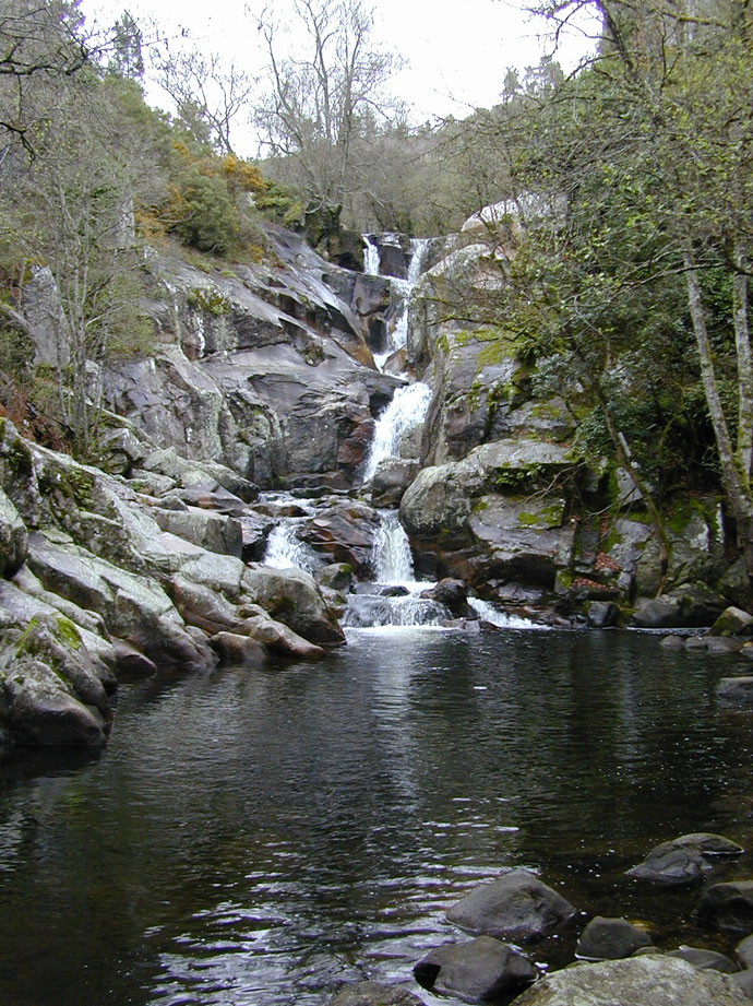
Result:
[[[316,209],[342,208],[361,187],[367,156],[359,141],[374,117],[395,111],[384,86],[398,61],[374,43],[373,14],[361,0],[292,5],[295,47],[302,55],[286,55],[274,4],[259,23],[270,86],[255,120],[283,180],[302,189]]]

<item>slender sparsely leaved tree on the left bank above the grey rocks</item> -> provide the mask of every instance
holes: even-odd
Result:
[[[56,81],[34,156],[16,147],[1,167],[0,315],[51,371],[59,421],[81,455],[96,446],[103,366],[143,346],[133,205],[157,173],[117,97],[94,75]]]

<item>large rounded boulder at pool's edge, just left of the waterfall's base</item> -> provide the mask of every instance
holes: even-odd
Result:
[[[249,567],[242,579],[249,600],[304,639],[324,647],[339,647],[345,636],[315,581],[300,569]]]

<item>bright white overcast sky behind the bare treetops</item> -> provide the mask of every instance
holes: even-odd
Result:
[[[376,36],[407,60],[393,86],[416,109],[416,121],[463,118],[474,107],[489,107],[499,99],[509,67],[524,71],[551,54],[551,40],[539,37],[546,22],[531,20],[524,2],[372,0]],[[253,17],[244,10],[261,12],[264,0],[84,0],[82,7],[104,24],[129,10],[140,25],[153,20],[170,35],[184,27],[196,45],[247,63],[252,73],[261,69]],[[557,58],[570,69],[590,48],[584,34],[573,32]],[[156,93],[148,98],[159,104]]]

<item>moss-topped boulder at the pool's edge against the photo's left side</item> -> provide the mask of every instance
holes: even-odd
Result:
[[[0,724],[17,744],[100,747],[112,713],[76,627],[62,615],[35,615],[4,634]]]

